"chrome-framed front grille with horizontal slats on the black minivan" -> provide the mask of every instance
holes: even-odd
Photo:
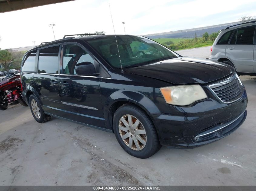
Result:
[[[237,74],[225,79],[224,81],[211,84],[209,87],[224,103],[235,102],[244,94],[243,84]]]

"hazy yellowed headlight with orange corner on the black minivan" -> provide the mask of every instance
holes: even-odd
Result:
[[[166,103],[172,105],[189,105],[197,100],[207,98],[200,85],[183,85],[160,88]]]

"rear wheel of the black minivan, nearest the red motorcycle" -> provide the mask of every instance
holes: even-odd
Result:
[[[45,123],[51,119],[51,116],[44,113],[40,102],[33,94],[29,97],[29,107],[33,117],[38,123]]]

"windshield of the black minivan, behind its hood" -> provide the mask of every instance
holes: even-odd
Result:
[[[122,67],[127,68],[179,57],[170,49],[145,37],[117,35],[116,39],[111,35],[89,39],[87,42],[115,68],[121,68],[120,58]]]

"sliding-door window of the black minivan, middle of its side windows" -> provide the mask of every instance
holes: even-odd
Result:
[[[58,53],[60,46],[40,49],[38,59],[38,73],[58,74]]]

